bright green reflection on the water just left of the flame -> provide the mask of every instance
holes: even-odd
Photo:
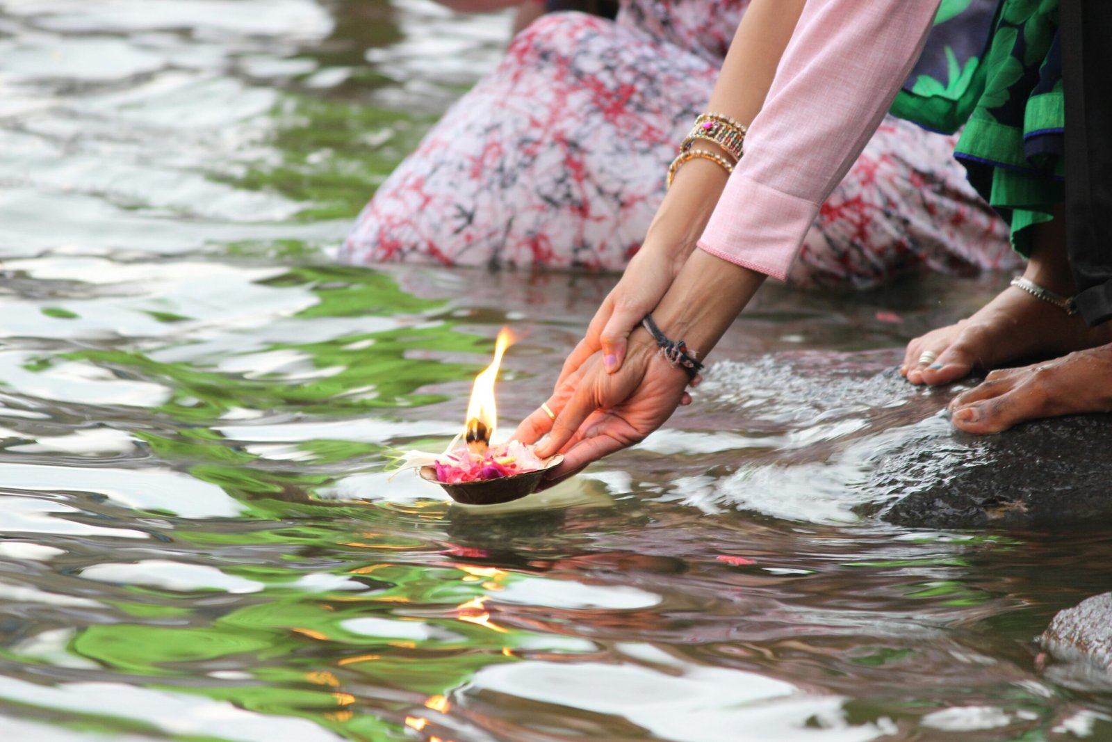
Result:
[[[88,349],[60,357],[93,363],[122,376],[169,387],[170,399],[156,412],[182,423],[215,422],[235,408],[337,416],[428,405],[447,397],[418,389],[464,380],[483,368],[480,364],[408,359],[406,354],[417,350],[485,355],[489,340],[459,332],[451,319],[433,314],[443,308],[441,303],[408,296],[383,274],[358,268],[296,267],[262,283],[275,287],[304,286],[317,297],[317,303],[295,319],[417,314],[424,315],[423,324],[319,342],[271,343],[251,350],[290,350],[314,368],[331,372],[309,379],[288,378],[279,373],[247,377],[189,363],[161,363],[133,349]],[[33,370],[42,370],[47,365],[40,363]],[[182,451],[179,447],[178,453]],[[160,453],[173,452],[163,447]]]

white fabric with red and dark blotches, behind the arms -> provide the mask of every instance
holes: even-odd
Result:
[[[542,18],[383,184],[340,259],[620,270],[747,3],[626,0],[617,21]],[[1007,227],[965,182],[953,146],[886,119],[791,280],[865,287],[921,266],[1013,267]]]

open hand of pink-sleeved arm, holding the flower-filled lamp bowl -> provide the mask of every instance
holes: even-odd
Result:
[[[518,425],[513,437],[532,444],[546,433],[536,453],[547,458],[564,454],[564,462],[548,475],[548,485],[587,464],[632,446],[664,424],[687,397],[687,374],[673,366],[647,333],[634,335],[626,363],[608,373],[602,353],[590,356],[558,384],[548,398],[552,419],[535,410]]]

